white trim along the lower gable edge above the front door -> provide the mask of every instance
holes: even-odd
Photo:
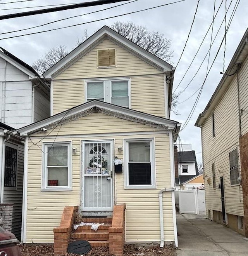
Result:
[[[79,117],[79,113],[83,113],[83,112],[92,110],[92,108],[100,108],[105,111],[110,111],[111,113],[117,113],[118,115],[125,115],[130,118],[134,118],[134,122],[137,119],[144,120],[145,122],[150,122],[150,123],[153,123],[156,125],[163,125],[164,127],[167,127],[168,129],[173,129],[173,130],[175,129],[174,125],[178,124],[178,122],[176,122],[176,121],[169,120],[169,119],[166,119],[163,117],[157,117],[157,116],[149,115],[149,114],[139,112],[136,110],[131,110],[131,109],[124,108],[121,106],[116,106],[116,105],[113,105],[110,103],[93,100],[93,101],[81,104],[79,106],[76,106],[74,108],[71,108],[69,110],[66,110],[64,112],[61,112],[52,117],[49,117],[49,118],[46,118],[39,122],[36,122],[34,124],[30,124],[25,127],[22,127],[20,129],[18,129],[17,131],[20,133],[21,136],[27,136],[28,134],[38,131],[43,127],[47,127],[53,123],[60,122],[60,120],[62,120],[62,118],[65,118],[65,114],[67,111],[69,111],[69,112],[68,112],[68,115],[66,115],[66,118],[70,119],[70,117],[75,116],[77,114]],[[86,113],[86,115],[87,115],[87,113]],[[83,115],[81,115],[81,117],[82,116]]]

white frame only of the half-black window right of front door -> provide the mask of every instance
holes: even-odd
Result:
[[[151,185],[129,185],[129,142],[150,142],[150,162],[151,162]],[[124,139],[124,181],[125,189],[154,189],[156,186],[155,168],[155,143],[154,138]]]

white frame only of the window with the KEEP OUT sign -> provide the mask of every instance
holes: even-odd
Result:
[[[47,186],[47,148],[48,146],[67,146],[68,185]],[[43,142],[42,144],[42,182],[41,192],[45,191],[72,191],[72,143],[66,142]]]

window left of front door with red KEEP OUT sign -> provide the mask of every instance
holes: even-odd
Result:
[[[42,191],[71,189],[71,143],[44,143]]]

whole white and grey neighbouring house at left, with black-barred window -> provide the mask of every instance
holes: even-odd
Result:
[[[0,203],[14,204],[12,232],[21,238],[24,138],[15,129],[50,117],[50,85],[0,47]]]

